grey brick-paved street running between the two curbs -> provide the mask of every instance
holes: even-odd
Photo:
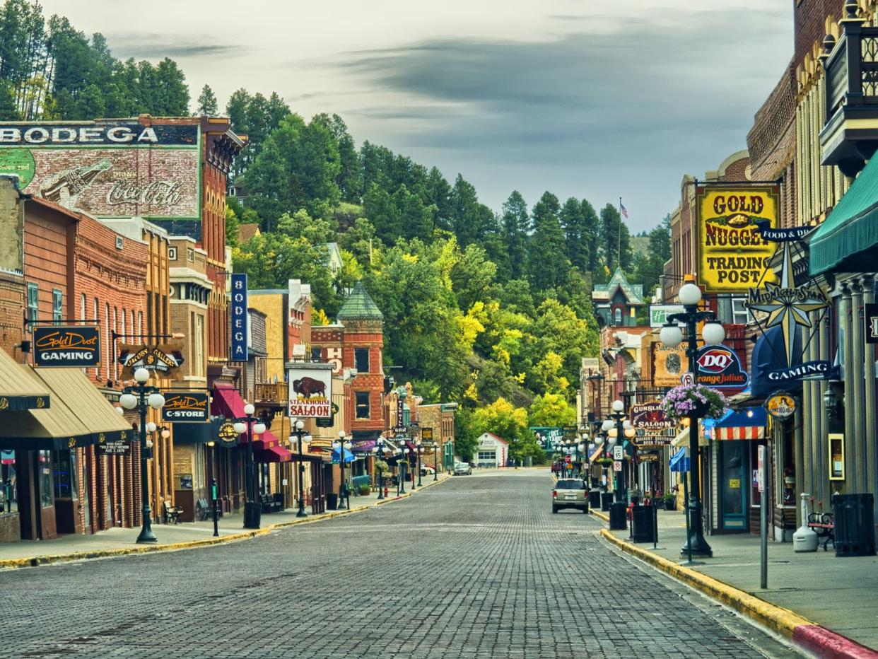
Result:
[[[255,540],[3,571],[0,655],[793,655],[591,516],[552,515],[550,489],[548,470],[457,476]]]

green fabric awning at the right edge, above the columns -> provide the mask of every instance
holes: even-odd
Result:
[[[874,272],[878,259],[878,158],[854,180],[810,240],[812,275]]]

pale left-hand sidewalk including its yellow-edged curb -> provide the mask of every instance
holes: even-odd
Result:
[[[213,521],[211,519],[205,522],[180,522],[179,524],[154,523],[152,528],[158,542],[150,545],[135,543],[137,535],[140,533],[140,527],[131,529],[117,527],[91,535],[70,534],[56,540],[21,540],[20,542],[0,543],[0,568],[22,568],[104,556],[208,547],[219,542],[245,540],[278,528],[284,528],[284,526],[310,524],[323,519],[366,511],[384,503],[399,501],[399,499],[407,498],[413,494],[416,495],[423,488],[445,482],[449,478],[450,476],[447,474],[440,474],[438,481],[434,481],[432,475],[422,477],[423,485],[413,492],[407,484],[406,494],[403,496],[396,496],[396,489],[389,492],[387,498],[381,500],[378,499],[378,492],[373,492],[369,496],[351,496],[349,511],[326,511],[320,515],[312,515],[310,508],[306,508],[306,512],[308,512],[306,518],[297,518],[298,509],[296,508],[283,512],[263,513],[262,528],[258,530],[244,529],[241,514],[227,514],[219,518],[219,537],[217,538],[213,537]]]

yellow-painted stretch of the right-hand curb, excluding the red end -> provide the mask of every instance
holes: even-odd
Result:
[[[808,619],[802,618],[802,616],[796,615],[789,609],[769,604],[764,599],[751,595],[744,590],[733,588],[728,583],[718,581],[712,576],[702,575],[701,572],[697,572],[694,569],[668,561],[666,558],[652,554],[641,547],[635,547],[624,540],[616,538],[607,529],[601,529],[601,535],[615,544],[616,547],[620,547],[627,554],[650,563],[677,580],[697,590],[701,590],[705,595],[731,606],[748,618],[754,619],[788,638],[792,638],[796,627],[815,624]]]

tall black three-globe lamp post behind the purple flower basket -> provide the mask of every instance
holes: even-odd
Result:
[[[706,344],[721,344],[725,338],[723,326],[716,322],[712,311],[699,311],[698,304],[702,301],[702,290],[689,282],[680,286],[677,293],[684,311],[680,314],[671,314],[667,317],[667,323],[662,326],[660,338],[663,344],[669,348],[676,348],[683,340],[683,334],[678,322],[686,324],[687,347],[686,355],[689,359],[689,373],[692,373],[694,382],[698,381],[698,335],[697,326],[704,322],[702,337]],[[698,473],[698,415],[689,415],[689,536],[686,544],[680,549],[680,555],[686,556],[712,556],[713,550],[707,540],[704,539],[702,528],[702,499],[701,483]]]

